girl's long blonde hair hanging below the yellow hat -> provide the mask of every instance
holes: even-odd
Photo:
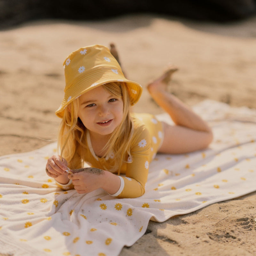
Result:
[[[125,83],[112,82],[102,85],[105,90],[118,98],[122,98],[123,118],[121,123],[112,132],[107,144],[102,149],[106,153],[102,157],[106,157],[111,153],[115,154],[115,162],[111,167],[111,172],[118,172],[125,162],[126,153],[130,155],[131,140],[133,134],[133,122],[130,114],[130,97]],[[65,108],[62,121],[59,128],[58,148],[61,148],[62,156],[67,160],[68,166],[71,169],[82,168],[84,165],[84,151],[87,148],[86,143],[86,128],[78,117],[79,100],[72,101]],[[103,168],[106,169],[105,166]]]

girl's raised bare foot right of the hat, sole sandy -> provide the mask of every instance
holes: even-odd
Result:
[[[169,68],[167,68],[161,76],[148,84],[148,92],[151,94],[159,90],[165,91],[167,84],[171,81],[172,74],[177,70],[178,68],[175,66],[170,66]]]

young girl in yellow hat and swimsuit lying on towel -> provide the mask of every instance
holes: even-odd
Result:
[[[142,87],[124,77],[107,47],[80,48],[68,56],[64,68],[65,96],[56,111],[62,118],[61,154],[48,159],[46,172],[65,190],[75,188],[82,194],[103,188],[117,198],[142,196],[149,163],[157,152],[187,153],[206,148],[212,141],[210,127],[166,92],[175,68],[147,87],[175,125],[159,122],[150,114],[130,113]],[[94,168],[74,170],[85,162]]]

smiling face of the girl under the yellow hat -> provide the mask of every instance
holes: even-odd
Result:
[[[123,99],[96,87],[79,97],[78,117],[91,135],[111,134],[122,121]]]

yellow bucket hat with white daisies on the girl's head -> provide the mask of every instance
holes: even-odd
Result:
[[[103,45],[90,45],[72,52],[63,62],[65,69],[65,95],[60,108],[55,112],[60,118],[70,102],[83,93],[102,84],[124,82],[134,105],[140,98],[140,84],[127,80],[117,60]]]

